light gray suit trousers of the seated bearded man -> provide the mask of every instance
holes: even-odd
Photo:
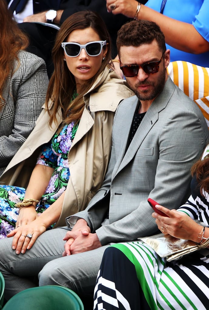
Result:
[[[67,227],[44,232],[25,254],[17,255],[12,250],[13,238],[0,241],[0,271],[5,279],[5,298],[30,287],[38,286],[35,280],[39,277],[39,286],[62,285],[77,294],[93,294],[98,270],[104,250],[96,250],[62,257],[64,251],[63,237]]]

